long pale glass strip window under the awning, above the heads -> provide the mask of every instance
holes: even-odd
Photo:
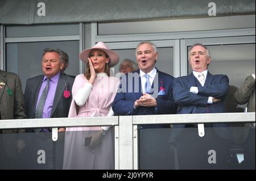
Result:
[[[154,19],[139,22],[103,22],[98,23],[98,35],[189,32],[251,27],[255,27],[255,14],[192,19]]]

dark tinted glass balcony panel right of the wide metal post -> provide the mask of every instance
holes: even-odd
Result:
[[[212,124],[139,130],[139,169],[255,169],[255,127]]]

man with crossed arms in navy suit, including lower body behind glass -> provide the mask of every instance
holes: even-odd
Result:
[[[226,75],[209,73],[211,57],[208,48],[202,44],[194,44],[188,57],[192,73],[174,79],[177,113],[226,112],[224,101],[229,92],[229,79]],[[197,128],[193,128],[196,126],[196,124],[186,125],[189,128],[179,129],[180,134],[176,135],[179,169],[221,169],[222,166],[227,166],[226,158],[229,157],[230,142],[218,135],[218,132],[225,131],[220,126],[226,124],[207,124],[215,128],[206,128],[204,137],[199,137]],[[175,125],[175,127],[182,128],[185,125]],[[193,151],[195,148],[196,151]],[[216,151],[218,164],[208,163],[209,150]]]

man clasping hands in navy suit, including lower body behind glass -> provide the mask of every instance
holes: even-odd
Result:
[[[158,59],[156,45],[150,41],[139,43],[136,57],[139,70],[127,73],[122,77],[119,90],[112,104],[115,115],[176,113],[176,104],[172,98],[174,77],[155,68],[155,62]],[[168,131],[170,125],[143,125],[139,128],[140,168],[168,169],[167,166],[174,161],[168,159],[169,157],[172,158],[168,137],[166,137],[168,134],[163,135],[161,133]],[[163,130],[162,128],[167,129]],[[161,141],[159,142],[159,140]],[[169,156],[166,158],[163,155]]]

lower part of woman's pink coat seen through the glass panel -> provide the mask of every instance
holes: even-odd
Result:
[[[110,128],[97,144],[89,140],[99,131],[66,131],[63,169],[114,169],[114,129]]]

